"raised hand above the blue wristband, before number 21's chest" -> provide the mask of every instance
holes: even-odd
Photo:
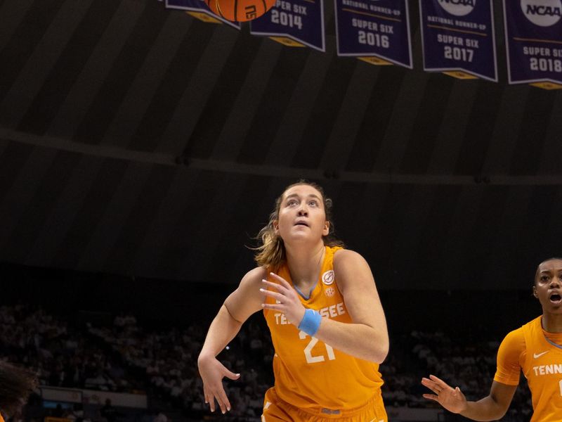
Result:
[[[277,276],[277,274],[270,273],[270,275],[279,281],[279,283],[271,283],[270,281],[262,280],[263,288],[260,290],[264,295],[275,299],[277,303],[275,303],[275,305],[264,303],[262,306],[265,309],[274,309],[282,312],[291,324],[299,326],[305,311],[299,299],[299,295],[297,295],[296,291],[287,280]],[[273,288],[273,290],[267,290],[268,287]]]

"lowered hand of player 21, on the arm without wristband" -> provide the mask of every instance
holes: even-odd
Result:
[[[197,361],[199,365],[199,373],[203,380],[203,392],[205,395],[205,403],[209,403],[211,411],[215,411],[215,399],[221,411],[226,413],[230,411],[230,402],[226,397],[226,392],[223,387],[223,377],[237,380],[240,378],[240,373],[233,373],[228,371],[226,366],[218,362],[216,357],[204,357]]]

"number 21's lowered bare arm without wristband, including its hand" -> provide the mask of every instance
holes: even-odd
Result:
[[[203,380],[205,402],[209,403],[211,411],[215,410],[215,399],[221,411],[230,410],[230,402],[223,388],[223,377],[237,379],[240,373],[229,371],[216,356],[235,338],[240,327],[251,314],[262,309],[263,294],[260,293],[261,280],[267,277],[267,271],[257,267],[248,271],[240,281],[240,286],[218,310],[203,344],[197,366]]]

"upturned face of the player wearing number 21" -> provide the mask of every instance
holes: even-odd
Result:
[[[322,194],[310,185],[301,184],[283,193],[275,233],[283,241],[306,239],[318,241],[329,231]]]

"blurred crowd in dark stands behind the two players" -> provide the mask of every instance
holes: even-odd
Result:
[[[35,369],[42,385],[146,392],[149,402],[165,403],[181,411],[185,420],[201,420],[204,415],[211,420],[196,363],[207,324],[147,328],[132,314],[122,313],[112,324],[80,326],[68,318],[55,318],[41,307],[4,306],[0,307],[0,358]],[[391,334],[391,351],[381,365],[386,405],[435,407],[421,397],[420,380],[429,373],[459,386],[468,399],[488,395],[498,346],[497,338],[469,333]],[[226,381],[232,411],[220,420],[259,421],[263,395],[273,385],[273,347],[263,322],[254,318],[244,324],[218,358],[242,374],[237,381]],[[531,409],[523,378],[504,420],[528,421]],[[60,411],[60,416],[78,422],[83,418],[79,408],[54,409],[51,414],[59,416]],[[101,421],[115,422],[119,412],[107,408],[99,416]],[[143,422],[169,422],[169,417],[156,412]]]

